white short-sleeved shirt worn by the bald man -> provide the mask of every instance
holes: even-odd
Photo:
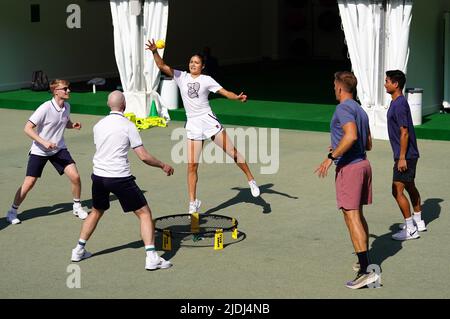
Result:
[[[142,146],[136,126],[120,112],[112,111],[94,126],[94,175],[131,176],[128,151]]]

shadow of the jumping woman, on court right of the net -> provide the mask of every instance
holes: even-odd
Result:
[[[281,196],[285,196],[288,198],[292,198],[292,199],[298,199],[298,197],[296,196],[291,196],[289,194],[286,193],[281,193],[278,192],[276,190],[271,189],[274,186],[273,183],[268,183],[268,184],[264,184],[264,185],[260,185],[259,186],[259,190],[261,192],[261,195],[263,194],[276,194],[276,195],[281,195]],[[257,206],[261,206],[262,207],[262,213],[263,214],[270,214],[272,212],[272,208],[270,207],[270,203],[266,202],[262,196],[260,195],[259,197],[253,197],[250,189],[249,188],[242,188],[242,187],[233,187],[232,189],[237,190],[238,193],[236,194],[236,196],[234,196],[233,198],[227,200],[226,202],[210,208],[209,210],[207,210],[205,212],[205,214],[212,214],[214,212],[217,212],[221,209],[225,209],[227,207],[236,205],[236,204],[240,204],[240,203],[250,203],[250,204],[255,204]]]

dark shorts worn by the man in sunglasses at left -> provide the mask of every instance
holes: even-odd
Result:
[[[75,164],[75,161],[70,156],[67,149],[62,149],[52,156],[40,156],[30,154],[28,157],[27,175],[33,177],[41,177],[47,161],[53,164],[59,175],[64,174],[64,169],[70,164]]]

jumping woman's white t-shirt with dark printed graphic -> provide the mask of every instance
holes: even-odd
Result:
[[[195,79],[186,71],[173,70],[173,74],[173,78],[180,88],[187,118],[210,113],[209,92],[216,93],[222,86],[212,77],[204,74]]]

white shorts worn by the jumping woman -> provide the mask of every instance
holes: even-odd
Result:
[[[223,131],[214,113],[207,113],[198,117],[189,118],[186,122],[186,135],[190,140],[203,141]]]

